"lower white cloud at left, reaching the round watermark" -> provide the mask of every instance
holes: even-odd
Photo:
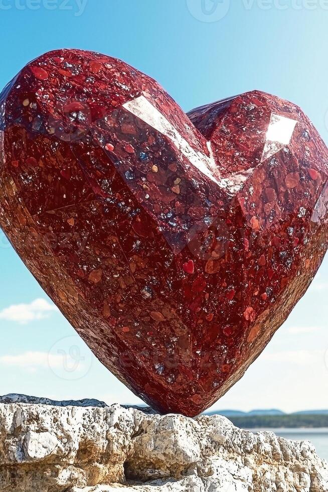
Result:
[[[49,366],[61,367],[62,355],[48,352],[30,351],[17,355],[1,355],[0,364],[7,367],[24,368],[28,372],[35,373],[38,369],[46,369]]]

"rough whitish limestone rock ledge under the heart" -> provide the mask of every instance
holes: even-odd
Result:
[[[40,401],[0,399],[1,492],[328,490],[328,464],[309,442],[253,434],[218,415]]]

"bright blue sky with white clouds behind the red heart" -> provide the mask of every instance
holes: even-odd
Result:
[[[185,109],[250,89],[299,104],[328,142],[327,0],[0,0],[5,84],[43,52],[123,59]],[[0,234],[0,394],[137,403],[90,353]],[[215,409],[328,408],[328,260]]]

